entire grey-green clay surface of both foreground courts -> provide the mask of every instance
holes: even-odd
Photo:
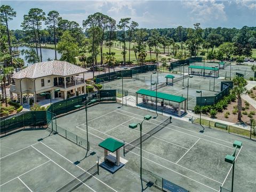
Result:
[[[1,138],[1,191],[68,191],[65,189],[74,182],[74,186],[80,184],[74,191],[140,191],[139,146],[125,156],[121,150],[121,157],[127,163],[115,174],[99,168],[99,175],[86,179],[86,171],[95,173],[97,157],[103,157],[103,150],[98,147],[102,140],[111,137],[127,144],[138,139],[139,127],[129,129],[129,124],[141,122],[147,114],[156,115],[137,108],[118,107],[117,103],[105,103],[88,108],[90,151],[87,156],[83,148],[46,130],[24,130]],[[149,132],[166,118],[159,115],[143,122],[142,132]],[[86,139],[85,110],[56,121],[58,126]],[[163,129],[142,143],[143,179],[157,182],[154,179],[164,178],[190,191],[219,191],[220,186],[231,189],[231,165],[224,159],[233,153],[234,140],[239,140],[243,147],[237,150],[235,191],[253,191],[255,142],[218,130],[206,128],[200,133],[201,130],[201,126],[178,119],[165,122]],[[157,176],[153,177],[154,174]],[[143,185],[146,187],[146,182]],[[146,191],[159,190],[151,187]]]

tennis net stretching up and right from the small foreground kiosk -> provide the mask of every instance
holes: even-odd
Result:
[[[164,127],[170,124],[170,118],[167,118],[165,121],[163,121],[161,124],[157,125],[154,129],[151,129],[149,132],[145,133],[141,137],[141,142],[146,141],[148,138],[150,138],[152,135],[156,134],[158,131],[162,130]],[[124,155],[127,154],[129,151],[134,149],[135,147],[140,145],[140,138],[133,140],[130,143],[127,143],[124,146]]]

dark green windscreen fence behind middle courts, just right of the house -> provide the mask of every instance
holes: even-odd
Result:
[[[133,75],[139,73],[146,73],[147,71],[154,71],[157,69],[157,65],[144,65],[139,67],[133,67],[127,70],[119,70],[111,73],[101,74],[95,76],[95,83],[99,84],[106,81],[113,81],[118,77],[132,78]]]

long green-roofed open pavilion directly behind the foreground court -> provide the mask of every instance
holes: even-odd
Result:
[[[140,102],[139,102],[139,98],[138,95],[142,95],[142,98],[140,98]],[[146,98],[145,98],[146,96]],[[158,103],[158,99],[162,99],[161,102],[161,106],[158,106],[156,103],[156,100],[149,100],[147,98],[156,98],[157,103]],[[169,101],[169,104],[164,103],[165,101]],[[170,102],[174,102],[174,103],[178,103],[178,106],[174,106],[172,104],[170,104]],[[182,103],[185,102],[185,105],[183,106]],[[163,92],[156,92],[156,91],[150,91],[150,90],[146,90],[146,89],[140,89],[139,91],[136,92],[136,105],[137,106],[142,106],[142,107],[146,107],[146,108],[152,108],[152,109],[157,109],[157,110],[162,110],[164,113],[168,113],[168,114],[172,114],[172,115],[177,115],[177,116],[181,116],[185,113],[187,113],[187,99],[180,97],[178,95],[172,95],[172,94],[167,94],[167,93],[163,93]],[[155,106],[156,105],[156,106]],[[184,107],[184,111],[181,112],[181,107]],[[158,107],[157,107],[158,106]]]

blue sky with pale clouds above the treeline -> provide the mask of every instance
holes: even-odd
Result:
[[[42,9],[45,14],[56,10],[63,19],[83,20],[95,12],[107,14],[117,22],[131,18],[139,28],[193,27],[201,23],[206,27],[256,27],[256,0],[254,1],[1,1],[10,5],[17,17],[9,22],[10,29],[21,29],[23,15],[31,8]]]

